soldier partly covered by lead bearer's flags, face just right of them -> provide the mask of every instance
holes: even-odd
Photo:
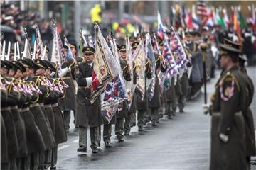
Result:
[[[131,73],[129,72],[129,63],[126,60],[126,46],[121,45],[119,46],[119,57],[120,57],[120,64],[121,69],[123,72],[123,77],[126,81],[131,81]],[[123,101],[121,104],[119,104],[117,108],[117,112],[115,115],[116,123],[114,126],[115,135],[117,136],[117,140],[119,142],[124,141],[124,118],[128,118],[128,103],[127,101]],[[130,118],[130,117],[129,117]],[[128,119],[129,119],[128,118]],[[129,125],[129,120],[127,121],[127,126]],[[128,132],[127,132],[128,133]],[[126,133],[126,135],[127,135]]]

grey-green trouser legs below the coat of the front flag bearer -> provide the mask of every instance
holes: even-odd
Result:
[[[79,127],[79,146],[87,147],[87,128],[86,127]],[[99,127],[92,127],[90,128],[90,139],[91,139],[91,148],[99,147]]]

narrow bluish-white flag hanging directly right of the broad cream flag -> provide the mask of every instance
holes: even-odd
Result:
[[[155,74],[156,60],[154,57],[153,47],[151,44],[151,38],[150,38],[149,33],[146,34],[146,56],[150,61],[151,70],[152,70],[152,79],[146,79],[147,84],[149,84],[147,92],[149,94],[149,100],[151,101],[151,99],[154,96],[154,89],[155,89],[155,85],[156,85],[156,74]]]

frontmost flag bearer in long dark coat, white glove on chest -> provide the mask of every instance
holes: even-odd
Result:
[[[82,52],[85,62],[75,65],[75,81],[78,83],[76,125],[79,126],[78,152],[87,152],[87,127],[90,126],[90,138],[92,153],[98,152],[99,126],[102,125],[102,113],[100,97],[94,103],[90,103],[93,59],[95,49],[84,47]]]

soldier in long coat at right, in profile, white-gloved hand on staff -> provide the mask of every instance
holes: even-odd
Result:
[[[245,146],[245,118],[252,91],[245,75],[238,67],[240,50],[220,45],[220,76],[212,106],[203,105],[204,113],[212,115],[210,169],[247,169]]]

